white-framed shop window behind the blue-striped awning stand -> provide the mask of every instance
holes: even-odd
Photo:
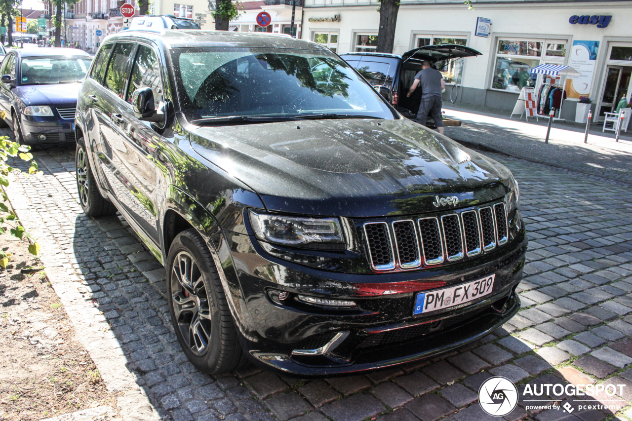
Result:
[[[540,64],[564,64],[567,40],[499,39],[495,51],[492,89],[520,92],[536,85],[530,70]]]

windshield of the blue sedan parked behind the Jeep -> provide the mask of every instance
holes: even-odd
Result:
[[[90,68],[88,56],[25,57],[21,63],[21,85],[50,85],[81,82]]]

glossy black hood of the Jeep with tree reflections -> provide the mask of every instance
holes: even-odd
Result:
[[[212,126],[191,146],[262,198],[268,210],[348,217],[459,207],[508,192],[511,173],[492,159],[410,120],[331,119]]]

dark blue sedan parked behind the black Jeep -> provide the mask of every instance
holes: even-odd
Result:
[[[70,48],[12,50],[0,65],[0,127],[26,145],[74,142],[75,109],[92,58]]]

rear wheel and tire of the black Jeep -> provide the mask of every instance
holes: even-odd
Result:
[[[85,149],[83,137],[77,142],[75,150],[77,192],[79,193],[79,204],[83,212],[88,216],[106,216],[116,213],[114,204],[104,198],[99,192],[94,174],[90,169],[88,153]]]

